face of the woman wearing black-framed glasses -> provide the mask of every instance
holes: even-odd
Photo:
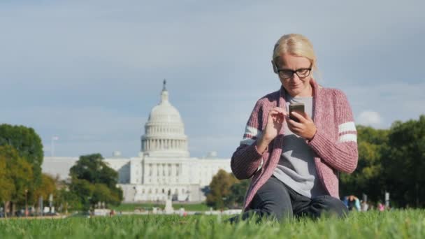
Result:
[[[306,70],[311,68],[312,64],[308,58],[284,54],[279,57],[278,62],[275,62],[275,64],[278,67],[278,71],[283,70],[283,72],[278,74],[279,79],[284,89],[286,89],[291,96],[312,96],[312,89],[310,86],[312,73]],[[287,72],[289,73],[287,75],[290,75],[291,71],[297,71],[298,74],[294,73],[289,78],[282,78],[282,73],[284,74],[284,72]],[[298,75],[301,75],[301,77]]]

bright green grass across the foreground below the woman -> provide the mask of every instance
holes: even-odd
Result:
[[[425,210],[354,212],[279,224],[177,215],[0,220],[0,238],[425,238]]]

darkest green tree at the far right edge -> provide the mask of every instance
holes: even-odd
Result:
[[[384,157],[384,178],[391,201],[398,205],[424,207],[425,191],[425,115],[419,120],[394,122]]]

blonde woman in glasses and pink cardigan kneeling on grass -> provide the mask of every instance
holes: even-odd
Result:
[[[251,178],[242,218],[343,217],[337,172],[352,173],[358,158],[347,98],[317,85],[315,53],[300,34],[282,36],[271,63],[282,87],[257,101],[231,158],[236,178]],[[304,113],[292,113],[296,120],[288,115],[291,103],[305,106]]]

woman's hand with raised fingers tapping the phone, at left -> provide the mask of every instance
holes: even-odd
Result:
[[[287,112],[283,108],[275,107],[268,112],[266,127],[261,138],[257,141],[257,149],[259,152],[264,152],[268,144],[278,136],[286,117]]]

